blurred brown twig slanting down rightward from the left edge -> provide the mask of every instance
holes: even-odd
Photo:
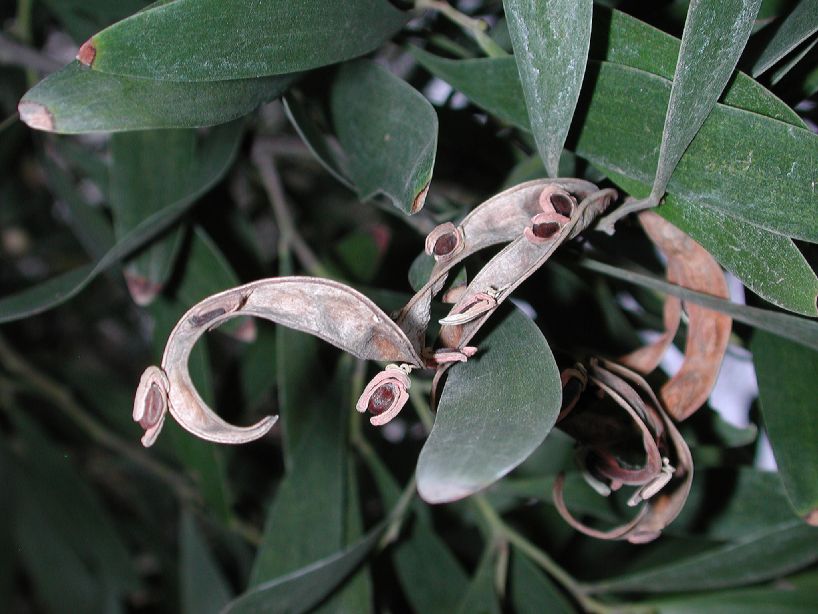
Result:
[[[196,491],[184,478],[155,461],[139,448],[128,444],[100,424],[80,406],[67,388],[52,380],[45,373],[38,371],[18,354],[2,336],[0,336],[0,363],[2,363],[10,373],[24,380],[32,392],[51,401],[96,443],[116,454],[128,458],[152,473],[167,483],[180,499],[188,501],[198,499]]]

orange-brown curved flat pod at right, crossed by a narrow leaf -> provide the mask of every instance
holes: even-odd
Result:
[[[691,290],[729,298],[724,273],[702,246],[673,224],[654,213],[643,211],[639,221],[645,232],[667,257],[667,279]],[[710,396],[730,339],[732,320],[728,315],[685,303],[688,334],[685,358],[679,371],[659,391],[668,413],[684,420]],[[665,333],[653,344],[624,356],[620,362],[641,373],[659,364],[672,343],[681,320],[681,303],[668,296],[665,301]]]

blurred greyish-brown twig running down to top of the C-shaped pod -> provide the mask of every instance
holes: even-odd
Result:
[[[276,223],[281,233],[280,241],[285,248],[292,248],[301,266],[311,275],[315,275],[316,277],[330,277],[329,272],[324,268],[318,260],[318,257],[300,235],[295,226],[295,222],[293,222],[290,209],[287,206],[287,197],[284,195],[284,186],[281,183],[281,177],[276,169],[275,158],[272,152],[263,145],[256,143],[253,145],[251,157],[261,175],[261,182],[264,185],[264,189],[270,199],[270,204],[273,207],[273,215],[275,215]]]

